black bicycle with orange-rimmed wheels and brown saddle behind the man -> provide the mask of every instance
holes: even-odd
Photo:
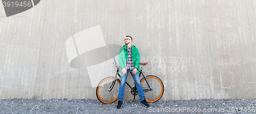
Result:
[[[140,65],[142,66],[139,71],[139,77],[141,74],[143,76],[142,79],[140,80],[140,83],[142,85],[146,101],[156,102],[163,96],[164,86],[160,78],[153,75],[145,76],[145,73],[142,71],[142,69],[143,66],[147,63],[148,62],[140,63]],[[118,99],[120,80],[117,78],[117,75],[121,77],[118,69],[120,68],[120,66],[118,66],[114,62],[113,66],[114,70],[116,71],[116,74],[113,77],[106,77],[103,80],[101,80],[96,88],[96,96],[98,100],[105,104],[114,103]],[[133,101],[136,101],[135,96],[138,95],[138,92],[135,83],[134,87],[132,87],[127,82],[126,84],[131,88],[131,94],[134,95]]]

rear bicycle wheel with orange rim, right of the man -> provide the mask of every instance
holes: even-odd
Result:
[[[147,76],[146,80],[143,78],[141,79],[140,83],[147,102],[156,102],[163,96],[163,82],[158,77],[152,75]]]

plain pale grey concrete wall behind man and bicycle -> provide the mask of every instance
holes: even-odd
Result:
[[[42,0],[9,17],[0,3],[0,99],[97,99],[65,45],[95,26],[106,44],[133,37],[146,74],[164,83],[161,100],[255,99],[255,20],[249,0]]]

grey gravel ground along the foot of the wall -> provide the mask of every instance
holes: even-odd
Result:
[[[140,105],[139,101],[103,104],[98,100],[82,99],[6,99],[0,100],[0,113],[256,113],[256,100],[173,100]]]

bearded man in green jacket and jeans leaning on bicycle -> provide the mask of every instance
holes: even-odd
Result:
[[[120,73],[121,73],[121,83],[119,85],[119,93],[118,93],[118,105],[117,108],[120,109],[123,104],[123,96],[124,96],[124,88],[125,82],[127,79],[128,73],[130,73],[135,82],[136,88],[138,90],[140,103],[145,107],[150,107],[145,100],[145,96],[143,93],[142,85],[140,84],[139,77],[139,64],[140,64],[140,54],[138,49],[132,45],[133,38],[131,36],[126,36],[124,39],[125,45],[120,49],[118,55],[118,62],[120,65]]]

